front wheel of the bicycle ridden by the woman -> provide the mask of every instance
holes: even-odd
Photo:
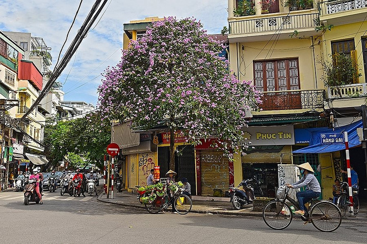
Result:
[[[271,201],[264,207],[264,222],[274,230],[285,229],[291,224],[292,218],[291,208],[282,201]]]

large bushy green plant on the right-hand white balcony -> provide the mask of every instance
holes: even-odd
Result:
[[[324,70],[321,79],[325,86],[335,88],[340,98],[342,97],[341,87],[352,84],[361,76],[352,58],[345,53],[330,54],[330,60],[322,59],[320,63]]]

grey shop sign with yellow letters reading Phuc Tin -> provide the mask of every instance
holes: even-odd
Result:
[[[294,145],[293,126],[251,126],[242,129],[244,140],[239,145]],[[249,142],[251,142],[249,144]]]

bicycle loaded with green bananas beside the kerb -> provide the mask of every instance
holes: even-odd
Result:
[[[163,188],[163,192],[164,194],[162,196],[156,194],[155,190],[152,190],[149,194],[147,194],[145,191],[139,192],[140,199],[141,197],[147,197],[149,199],[148,202],[144,203],[144,206],[150,214],[158,214],[160,211],[165,210],[172,205],[172,197],[167,195],[165,188]],[[178,191],[173,196],[174,206],[172,207],[176,209],[178,214],[186,215],[192,208],[192,201],[187,195],[182,194],[182,192],[183,189],[178,188]]]

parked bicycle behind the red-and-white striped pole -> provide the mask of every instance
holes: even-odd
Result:
[[[347,211],[349,212],[350,204],[349,201],[349,193],[348,193],[348,182],[342,182],[340,184],[345,191],[340,192],[340,196],[336,200],[336,205],[340,208],[340,211],[342,212],[342,216],[345,217],[347,214]],[[359,212],[359,188],[353,188],[353,213],[354,215],[357,215]]]

